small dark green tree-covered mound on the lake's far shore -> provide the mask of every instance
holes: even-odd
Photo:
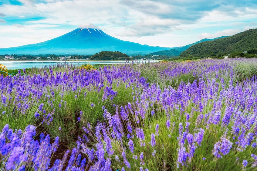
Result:
[[[101,51],[91,56],[91,60],[125,60],[130,58],[127,54],[115,51]]]

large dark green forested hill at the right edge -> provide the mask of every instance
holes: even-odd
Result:
[[[180,57],[221,56],[237,52],[242,53],[256,48],[257,29],[250,29],[226,38],[195,44],[181,52]]]

